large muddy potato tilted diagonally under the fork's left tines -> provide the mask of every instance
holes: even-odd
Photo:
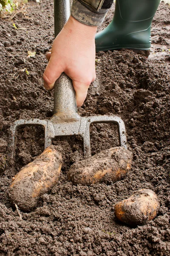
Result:
[[[57,182],[61,165],[62,156],[55,147],[46,148],[13,178],[9,190],[11,201],[25,211],[35,207],[39,196]]]

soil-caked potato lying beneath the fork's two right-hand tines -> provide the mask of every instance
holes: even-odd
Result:
[[[116,147],[101,151],[93,157],[74,163],[67,174],[74,184],[117,181],[125,177],[130,169],[132,153],[125,148]]]

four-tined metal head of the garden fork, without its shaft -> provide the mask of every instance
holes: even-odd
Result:
[[[91,144],[90,144],[90,125],[93,123],[113,123],[118,127],[119,133],[119,145],[127,148],[127,139],[125,124],[118,116],[89,116],[80,117],[79,120],[74,122],[53,122],[51,120],[40,120],[40,119],[20,119],[14,122],[10,127],[8,152],[9,156],[14,158],[15,145],[16,145],[16,132],[20,127],[26,125],[42,125],[45,129],[45,145],[47,148],[52,144],[52,140],[57,136],[69,136],[69,135],[80,135],[83,138],[84,146],[84,157],[88,158],[91,156]]]

